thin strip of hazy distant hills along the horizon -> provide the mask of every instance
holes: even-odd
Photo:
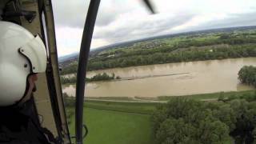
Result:
[[[190,34],[209,34],[209,33],[217,33],[217,32],[232,32],[234,30],[253,30],[253,29],[256,29],[256,26],[238,26],[238,27],[227,27],[227,28],[218,28],[218,29],[210,29],[210,30],[196,30],[196,31],[189,31],[189,32],[183,32],[183,33],[177,33],[177,34],[166,34],[166,35],[161,35],[156,37],[142,38],[142,39],[128,41],[128,42],[118,42],[118,43],[110,44],[108,46],[98,47],[94,50],[90,50],[90,55],[98,54],[102,50],[110,50],[110,49],[114,49],[116,47],[122,47],[122,46],[131,46],[136,42],[144,42],[144,41],[149,41],[153,39],[173,38],[177,36],[190,35]],[[78,59],[78,53],[62,56],[58,58],[58,61],[60,63],[66,63],[66,62],[74,61],[76,59]]]

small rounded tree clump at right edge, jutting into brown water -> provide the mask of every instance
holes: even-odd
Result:
[[[238,72],[238,78],[242,83],[256,86],[256,66],[243,66]]]

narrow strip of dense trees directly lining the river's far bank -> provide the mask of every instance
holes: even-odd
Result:
[[[113,67],[142,66],[170,62],[190,62],[223,58],[255,57],[256,45],[223,47],[214,50],[186,50],[176,53],[155,53],[134,55],[129,58],[116,58],[108,61],[89,62],[88,70],[101,70]],[[72,70],[71,70],[72,71]]]

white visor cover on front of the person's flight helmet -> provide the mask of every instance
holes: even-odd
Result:
[[[30,61],[32,73],[43,73],[46,71],[46,46],[38,35],[22,46],[19,52]]]

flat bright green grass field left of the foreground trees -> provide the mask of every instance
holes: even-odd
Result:
[[[153,144],[151,116],[113,110],[84,109],[84,122],[89,129],[85,143],[91,144]],[[74,117],[70,123],[74,134]]]

